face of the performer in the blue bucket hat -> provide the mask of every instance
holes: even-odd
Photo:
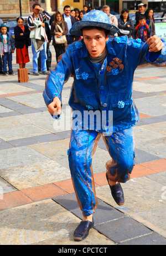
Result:
[[[100,31],[98,29],[84,29],[82,34],[87,51],[91,57],[96,58],[105,51],[106,42],[108,41],[108,36],[106,37],[105,31]]]

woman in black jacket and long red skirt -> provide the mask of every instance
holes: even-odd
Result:
[[[29,46],[29,28],[24,25],[22,17],[17,18],[17,26],[14,27],[16,63],[19,68],[25,68],[25,63],[29,62],[28,46]]]

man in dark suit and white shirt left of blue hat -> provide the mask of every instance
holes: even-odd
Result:
[[[69,31],[70,31],[70,28],[76,22],[75,17],[70,16],[70,11],[71,11],[70,6],[65,6],[64,7],[63,19],[68,24],[68,33],[66,34],[66,39],[67,39],[68,44],[71,44],[71,43],[74,42],[74,36],[72,36],[69,33]]]

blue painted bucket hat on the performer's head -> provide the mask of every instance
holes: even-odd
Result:
[[[108,15],[103,11],[93,10],[82,17],[82,21],[77,21],[70,29],[70,34],[82,36],[82,28],[84,27],[100,27],[110,31],[108,34],[115,34],[118,28],[110,23]]]

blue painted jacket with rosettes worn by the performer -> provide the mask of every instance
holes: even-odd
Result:
[[[139,120],[132,97],[134,71],[145,61],[157,66],[165,65],[166,44],[164,39],[162,41],[164,42],[162,52],[150,53],[148,44],[141,42],[141,39],[128,39],[127,36],[110,37],[106,43],[106,59],[103,64],[97,64],[98,66],[90,61],[83,40],[70,44],[62,60],[55,69],[51,70],[46,79],[43,92],[46,106],[54,97],[59,97],[61,100],[63,84],[72,74],[74,83],[69,105],[73,111],[80,111],[82,116],[87,111],[99,111],[103,116],[102,128],[94,129],[101,132],[105,130],[112,133],[132,127]],[[110,123],[106,114],[108,111],[113,113],[112,127],[112,122]]]

